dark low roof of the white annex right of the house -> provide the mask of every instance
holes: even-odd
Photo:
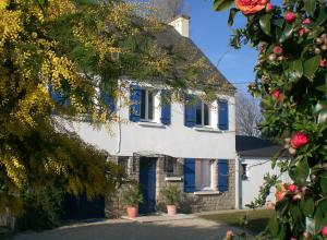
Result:
[[[269,140],[237,135],[237,152],[242,157],[274,157],[281,149],[281,145]],[[288,154],[283,152],[281,157],[288,157]]]

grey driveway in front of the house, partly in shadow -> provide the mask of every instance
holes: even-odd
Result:
[[[65,226],[43,232],[16,235],[14,240],[222,240],[226,225],[193,217],[154,218],[157,220],[106,220]],[[234,229],[237,231],[237,229]]]

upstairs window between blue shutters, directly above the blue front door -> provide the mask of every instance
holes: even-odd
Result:
[[[155,94],[148,89],[141,89],[141,119],[154,120]]]

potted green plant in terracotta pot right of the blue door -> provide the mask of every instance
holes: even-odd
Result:
[[[181,190],[177,185],[168,185],[161,190],[161,195],[167,204],[167,214],[170,216],[175,215],[177,204],[181,197]]]

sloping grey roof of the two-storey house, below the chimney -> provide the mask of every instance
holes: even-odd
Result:
[[[144,21],[137,20],[138,24],[144,24]],[[226,93],[234,94],[235,87],[225,77],[225,75],[211,63],[204,52],[189,37],[183,37],[180,33],[170,25],[162,24],[162,28],[154,34],[154,41],[160,47],[177,52],[179,60],[174,65],[177,73],[183,73],[186,65],[193,64],[203,60],[203,68],[197,72],[197,79],[193,80],[190,85],[194,89],[226,89]],[[170,81],[174,81],[171,75]],[[168,81],[168,80],[167,80]]]

